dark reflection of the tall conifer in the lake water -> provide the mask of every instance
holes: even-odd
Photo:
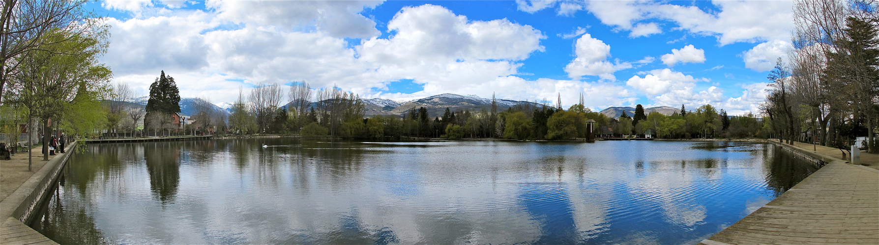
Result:
[[[180,151],[170,143],[143,144],[143,159],[149,172],[149,189],[156,198],[174,200],[180,184]]]

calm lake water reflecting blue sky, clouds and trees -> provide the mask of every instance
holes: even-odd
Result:
[[[86,148],[30,224],[55,242],[693,244],[817,170],[770,144],[726,142]]]

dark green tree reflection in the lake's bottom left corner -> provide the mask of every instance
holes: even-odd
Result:
[[[37,216],[28,226],[61,244],[106,244],[101,230],[95,228],[94,218],[87,212],[88,201],[77,201],[83,200],[77,197],[82,195],[79,192],[65,192],[69,190],[64,189],[62,183],[65,182],[71,181],[62,177],[61,186],[55,186],[52,197],[38,207],[34,213]],[[62,199],[69,203],[68,207],[62,206]]]

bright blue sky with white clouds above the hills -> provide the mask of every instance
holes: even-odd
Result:
[[[789,1],[102,1],[101,59],[140,95],[161,70],[222,104],[306,81],[364,98],[442,93],[586,107],[757,112]]]

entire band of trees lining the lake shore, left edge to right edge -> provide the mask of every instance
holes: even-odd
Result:
[[[755,114],[728,116],[710,104],[683,106],[672,115],[650,113],[609,118],[583,100],[564,109],[523,103],[508,109],[450,110],[429,115],[411,108],[401,116],[364,113],[359,95],[340,88],[259,84],[214,111],[208,99],[197,113],[180,115],[174,79],[164,72],[149,88],[145,108],[127,102],[132,89],[111,84],[111,68],[98,57],[108,45],[108,26],[81,1],[19,2],[11,15],[42,21],[4,25],[0,73],[0,130],[4,141],[51,137],[299,134],[347,138],[446,137],[564,140],[587,137],[748,138],[774,137],[844,147],[867,137],[876,151],[879,111],[879,35],[875,1],[795,1],[794,49],[768,75],[769,95]],[[14,6],[13,6],[14,7]],[[9,18],[4,15],[3,18]],[[283,104],[284,97],[289,103]],[[315,101],[315,102],[311,102]],[[186,122],[186,120],[189,120]]]

